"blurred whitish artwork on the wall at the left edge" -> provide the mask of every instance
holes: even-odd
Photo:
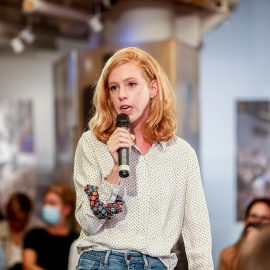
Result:
[[[0,98],[0,212],[15,192],[35,197],[33,102]]]

